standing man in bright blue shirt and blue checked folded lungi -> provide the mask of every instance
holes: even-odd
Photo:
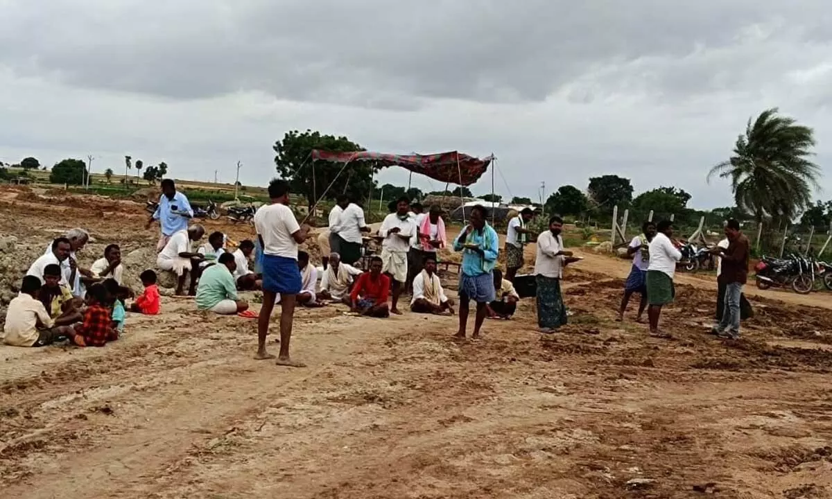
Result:
[[[463,252],[459,274],[459,331],[456,338],[465,338],[470,301],[477,302],[477,316],[472,338],[479,338],[479,330],[488,314],[488,304],[494,301],[492,271],[497,264],[500,240],[497,232],[485,221],[487,213],[481,205],[471,209],[470,224],[453,241],[453,250]]]

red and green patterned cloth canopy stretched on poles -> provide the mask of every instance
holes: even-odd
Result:
[[[401,166],[433,180],[458,185],[472,185],[483,176],[493,157],[484,160],[457,151],[437,154],[383,154],[380,152],[332,152],[312,151],[312,159],[349,163],[351,161],[375,161],[379,166]]]

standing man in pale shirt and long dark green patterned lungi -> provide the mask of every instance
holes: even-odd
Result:
[[[549,230],[537,236],[537,259],[534,274],[537,281],[537,326],[541,333],[554,333],[567,324],[567,307],[561,294],[563,267],[572,251],[563,249],[563,219],[549,219]]]

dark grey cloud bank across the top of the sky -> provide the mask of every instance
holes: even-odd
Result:
[[[830,21],[820,0],[7,4],[0,63],[20,74],[177,99],[258,90],[388,108],[542,101],[611,67],[582,99],[633,86],[700,93],[756,61],[685,57],[771,37],[825,41]]]

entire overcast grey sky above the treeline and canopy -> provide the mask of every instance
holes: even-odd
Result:
[[[493,152],[503,195],[616,174],[706,208],[730,204],[707,171],[770,106],[832,158],[824,0],[0,0],[0,18],[0,161],[121,171],[129,154],[233,181],[240,160],[265,185],[274,141],[311,128],[373,151]]]

